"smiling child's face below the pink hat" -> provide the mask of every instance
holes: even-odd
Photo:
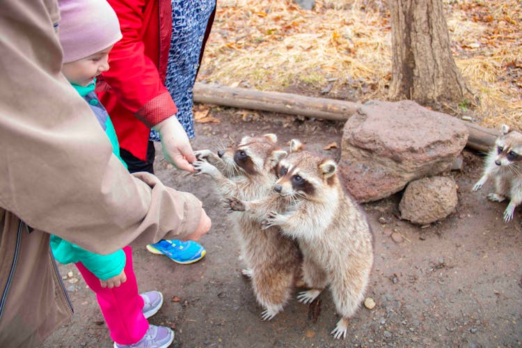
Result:
[[[70,83],[87,86],[99,74],[109,70],[109,52],[111,52],[111,49],[112,46],[77,61],[64,63],[62,72]]]

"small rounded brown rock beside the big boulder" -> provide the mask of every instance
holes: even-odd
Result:
[[[401,219],[425,225],[445,219],[458,203],[457,184],[452,177],[425,177],[412,181],[399,203]]]

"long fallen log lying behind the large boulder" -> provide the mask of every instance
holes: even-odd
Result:
[[[348,120],[361,106],[344,100],[200,83],[194,85],[193,98],[194,102],[203,104],[272,111],[341,122]],[[461,122],[468,127],[469,136],[466,146],[473,150],[487,152],[500,134],[496,130],[480,127],[471,122]]]

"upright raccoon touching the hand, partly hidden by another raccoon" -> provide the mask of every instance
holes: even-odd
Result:
[[[219,157],[208,150],[196,152],[199,160],[193,166],[198,175],[214,178],[223,198],[262,198],[271,192],[276,181],[274,168],[287,155],[276,142],[275,134],[245,136],[239,145],[220,150]],[[232,222],[239,232],[242,258],[248,267],[243,274],[252,279],[255,296],[264,308],[262,319],[270,320],[290,299],[301,271],[301,251],[278,228],[262,229],[253,216],[238,214]]]

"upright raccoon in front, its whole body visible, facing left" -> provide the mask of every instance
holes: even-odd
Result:
[[[303,280],[311,287],[299,301],[309,303],[329,285],[342,316],[331,332],[345,338],[348,319],[363,301],[373,264],[373,235],[363,211],[345,193],[331,159],[317,157],[292,141],[290,154],[278,164],[275,194],[262,200],[228,199],[234,211],[278,226],[297,239],[303,253]]]

